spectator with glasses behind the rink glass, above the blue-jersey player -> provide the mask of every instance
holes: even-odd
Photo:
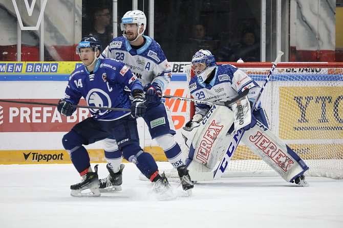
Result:
[[[108,6],[100,5],[92,16],[93,25],[84,34],[85,36],[97,36],[101,42],[101,49],[110,43],[113,33],[110,28],[111,14]]]

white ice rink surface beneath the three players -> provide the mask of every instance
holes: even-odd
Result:
[[[0,173],[2,228],[343,227],[343,180],[310,176],[310,186],[299,187],[277,176],[222,178],[197,183],[191,197],[158,201],[132,163],[125,163],[121,192],[92,198],[70,196],[81,181],[72,164],[0,165]],[[99,177],[107,175],[99,164]]]

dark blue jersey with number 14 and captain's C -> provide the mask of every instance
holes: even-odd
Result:
[[[142,85],[131,70],[122,62],[114,59],[98,59],[93,72],[82,65],[69,77],[65,99],[77,105],[84,97],[88,106],[131,109],[131,101],[124,87],[133,91]],[[130,114],[125,111],[90,109],[97,120],[115,120]]]

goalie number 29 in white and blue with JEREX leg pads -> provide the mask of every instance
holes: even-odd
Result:
[[[196,103],[195,115],[182,130],[192,180],[220,178],[243,134],[241,141],[285,181],[308,186],[304,176],[308,166],[268,129],[261,102],[251,112],[260,86],[232,65],[217,65],[209,50],[201,49],[193,56],[191,69],[195,76],[189,81],[189,91],[196,99],[224,103],[249,90],[231,107]]]

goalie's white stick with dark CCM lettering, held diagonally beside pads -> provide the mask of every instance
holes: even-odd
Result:
[[[273,74],[273,71],[274,71],[278,61],[280,61],[282,55],[284,55],[284,53],[281,50],[279,50],[277,57],[274,61],[274,64],[270,68],[269,73],[267,75],[267,78],[266,78],[263,86],[261,87],[259,95],[256,97],[255,102],[252,105],[251,112],[255,108],[256,104],[258,104],[259,99],[261,98],[261,94],[262,94],[263,90],[265,89],[266,84],[268,83],[269,79],[271,78],[271,75]],[[218,165],[216,170],[213,172],[213,180],[219,179],[223,175],[223,173],[226,169],[226,166],[228,165],[228,163],[231,159],[231,156],[233,155],[234,151],[237,149],[237,147],[238,147],[238,145],[239,145],[239,143],[243,137],[244,132],[245,132],[244,129],[240,129],[234,134],[234,136],[231,140],[231,143],[230,143],[230,145],[226,151],[226,154],[223,156],[222,161],[220,162],[220,164]]]

